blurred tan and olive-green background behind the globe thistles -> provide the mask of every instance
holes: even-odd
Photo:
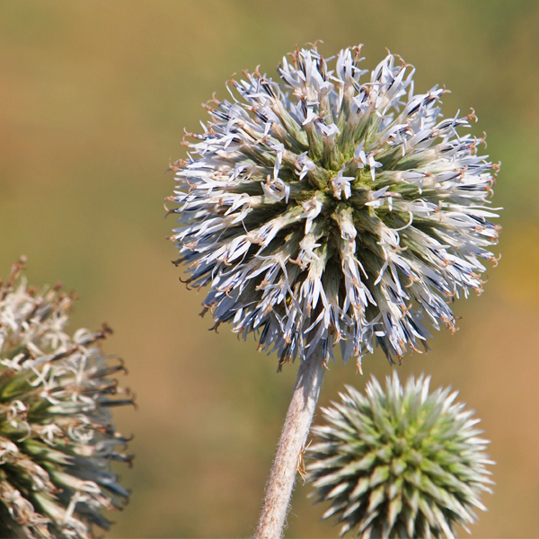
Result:
[[[474,537],[539,530],[539,3],[494,0],[0,2],[0,275],[22,253],[32,284],[62,281],[81,301],[71,328],[110,323],[105,343],[126,359],[122,383],[138,411],[116,411],[134,433],[133,490],[109,537],[252,534],[296,366],[222,327],[208,332],[203,296],[186,291],[164,240],[169,159],[182,129],[208,119],[211,93],[234,72],[275,67],[296,43],[321,51],[365,44],[417,67],[416,90],[446,84],[447,116],[474,107],[502,162],[495,206],[499,267],[485,294],[455,305],[460,331],[436,335],[399,373],[451,384],[478,411],[497,483]],[[332,365],[322,403],[391,367],[381,353]],[[320,417],[320,415],[319,415]],[[336,537],[298,484],[287,537]],[[464,534],[465,535],[465,534]]]

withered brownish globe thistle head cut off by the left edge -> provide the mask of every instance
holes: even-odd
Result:
[[[128,500],[110,472],[132,458],[110,407],[133,399],[110,378],[121,360],[99,346],[110,329],[69,337],[74,296],[27,287],[22,268],[0,282],[0,536],[93,537],[109,529],[102,510]]]

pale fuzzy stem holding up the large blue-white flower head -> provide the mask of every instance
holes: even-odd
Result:
[[[322,387],[325,372],[323,359],[322,349],[319,347],[310,358],[302,362],[297,371],[287,419],[278,442],[270,479],[266,485],[266,496],[255,539],[283,537],[296,471]]]

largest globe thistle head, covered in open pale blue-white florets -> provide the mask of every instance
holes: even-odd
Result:
[[[446,90],[414,93],[392,54],[362,82],[362,60],[341,50],[330,69],[314,47],[283,58],[280,84],[233,78],[172,166],[187,283],[209,286],[216,326],[253,332],[281,364],[340,342],[360,368],[375,341],[400,361],[426,348],[425,321],[455,330],[447,303],[481,292],[495,261],[498,165],[459,133],[474,114],[441,119]]]

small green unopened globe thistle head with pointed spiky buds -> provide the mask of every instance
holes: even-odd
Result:
[[[453,537],[455,524],[486,510],[489,442],[473,411],[454,403],[456,392],[429,394],[423,376],[402,387],[396,373],[385,390],[373,376],[367,396],[347,389],[323,409],[326,424],[313,428],[307,466],[317,501],[331,504],[323,518],[335,517],[341,535]]]

